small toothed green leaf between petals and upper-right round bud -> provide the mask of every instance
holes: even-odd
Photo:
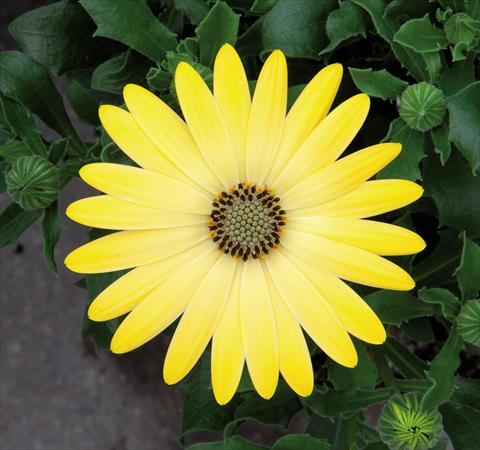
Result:
[[[372,69],[348,68],[355,85],[362,92],[371,97],[383,100],[396,100],[408,86],[406,81],[394,77],[385,69],[373,71]]]

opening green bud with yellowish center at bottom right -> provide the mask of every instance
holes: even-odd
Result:
[[[382,441],[392,450],[430,448],[442,432],[438,411],[423,411],[414,392],[394,395],[379,419]]]

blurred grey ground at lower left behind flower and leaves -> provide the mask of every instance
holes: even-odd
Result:
[[[0,50],[17,50],[7,26],[51,3],[0,1]],[[75,118],[74,118],[75,121]],[[93,129],[74,122],[83,138]],[[85,196],[76,179],[60,197],[61,211]],[[7,203],[0,196],[0,206]],[[96,354],[81,338],[85,292],[61,263],[86,242],[85,229],[62,217],[56,250],[59,277],[42,260],[39,224],[0,256],[0,448],[176,449],[182,395],[166,386],[162,365],[168,337],[124,356]]]

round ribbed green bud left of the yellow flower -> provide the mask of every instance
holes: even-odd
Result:
[[[8,170],[5,183],[10,196],[23,209],[40,209],[57,198],[60,176],[42,156],[22,156]]]

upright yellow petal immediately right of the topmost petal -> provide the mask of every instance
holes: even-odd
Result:
[[[280,50],[265,61],[253,95],[246,141],[247,179],[263,183],[282,139],[287,107],[287,62]]]

